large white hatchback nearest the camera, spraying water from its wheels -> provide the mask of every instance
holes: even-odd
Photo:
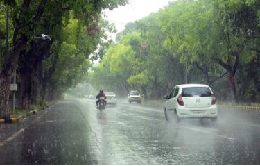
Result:
[[[216,97],[208,85],[176,85],[164,99],[168,99],[164,105],[166,120],[169,114],[173,115],[177,122],[182,118],[210,118],[212,122],[217,120]]]

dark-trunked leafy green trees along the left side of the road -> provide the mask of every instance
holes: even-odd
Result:
[[[87,79],[89,60],[102,55],[112,25],[101,19],[127,0],[0,0],[0,118],[10,117],[10,84],[17,73],[17,106],[54,101]],[[47,35],[46,36],[44,35]],[[44,36],[44,38],[42,38]]]

